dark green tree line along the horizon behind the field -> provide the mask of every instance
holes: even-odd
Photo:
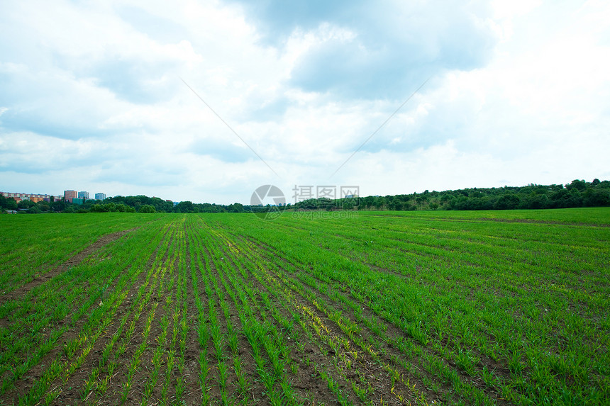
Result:
[[[455,191],[424,191],[396,196],[367,196],[331,200],[317,198],[281,208],[240,203],[172,202],[148,196],[115,196],[94,199],[82,205],[65,201],[20,201],[0,196],[0,208],[19,213],[244,213],[268,210],[509,210],[610,206],[610,181],[575,179],[566,185],[504,186],[465,188]]]

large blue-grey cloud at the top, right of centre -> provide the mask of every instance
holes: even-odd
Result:
[[[270,1],[245,10],[265,43],[306,44],[289,85],[344,98],[404,98],[427,77],[482,66],[499,39],[484,4]]]

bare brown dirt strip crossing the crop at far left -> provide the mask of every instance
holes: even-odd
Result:
[[[25,285],[21,286],[20,288],[16,288],[14,291],[7,292],[5,295],[1,296],[0,305],[9,302],[13,299],[21,298],[21,296],[28,294],[28,292],[36,286],[43,285],[44,283],[50,281],[52,278],[55,278],[55,276],[60,275],[65,271],[68,271],[70,268],[72,268],[72,266],[78,266],[85,258],[87,258],[87,256],[93,254],[94,252],[101,249],[102,247],[105,247],[111,242],[116,241],[117,239],[128,234],[129,232],[138,230],[138,228],[140,227],[135,227],[131,230],[111,232],[110,234],[102,235],[101,237],[99,237],[99,239],[97,239],[96,242],[90,244],[88,247],[85,247],[81,252],[77,252],[77,254],[74,254],[72,257],[67,259],[67,261],[56,266],[54,269],[48,271],[46,274],[38,275],[33,279],[33,281],[30,281]]]

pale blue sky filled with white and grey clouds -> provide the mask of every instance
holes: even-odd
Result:
[[[0,191],[610,179],[608,21],[608,1],[3,0]]]

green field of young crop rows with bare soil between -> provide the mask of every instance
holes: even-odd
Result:
[[[609,278],[609,208],[3,215],[0,405],[609,405]]]

